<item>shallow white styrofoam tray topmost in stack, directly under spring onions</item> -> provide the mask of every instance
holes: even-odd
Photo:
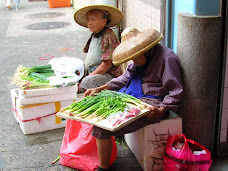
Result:
[[[23,97],[32,97],[32,96],[50,96],[56,94],[68,94],[68,93],[77,93],[78,88],[77,84],[74,86],[66,87],[53,87],[53,88],[40,88],[40,89],[28,89],[21,90],[19,89],[19,96]]]

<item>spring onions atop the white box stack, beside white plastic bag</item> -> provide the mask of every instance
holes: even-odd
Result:
[[[51,76],[55,76],[55,73],[49,64],[30,68],[19,66],[11,78],[11,84],[18,85],[20,89],[49,88],[53,87],[49,85],[48,80]]]

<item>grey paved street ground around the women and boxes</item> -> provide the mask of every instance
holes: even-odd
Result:
[[[18,65],[31,67],[47,64],[48,61],[39,60],[43,55],[84,59],[82,49],[90,33],[74,22],[74,11],[73,7],[50,9],[47,1],[28,0],[21,0],[18,11],[15,6],[6,11],[4,1],[0,1],[1,171],[75,170],[59,162],[51,165],[59,154],[64,128],[31,135],[22,133],[11,110],[10,90],[16,86],[9,86],[8,80]],[[45,30],[47,25],[44,22],[60,22],[57,25],[54,23],[53,27],[63,28]],[[65,25],[61,25],[62,22]],[[43,30],[31,30],[37,28]],[[118,150],[113,170],[142,170],[129,149],[118,145]]]

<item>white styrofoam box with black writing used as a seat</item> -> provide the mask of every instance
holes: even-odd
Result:
[[[181,117],[162,120],[133,133],[125,134],[125,141],[144,171],[162,170],[167,138],[182,133]]]

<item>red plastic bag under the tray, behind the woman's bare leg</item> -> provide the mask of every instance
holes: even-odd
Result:
[[[67,120],[62,146],[60,164],[79,169],[93,171],[99,166],[96,138],[90,135],[93,126],[78,121]],[[112,154],[110,165],[117,157],[115,138],[112,137]]]

